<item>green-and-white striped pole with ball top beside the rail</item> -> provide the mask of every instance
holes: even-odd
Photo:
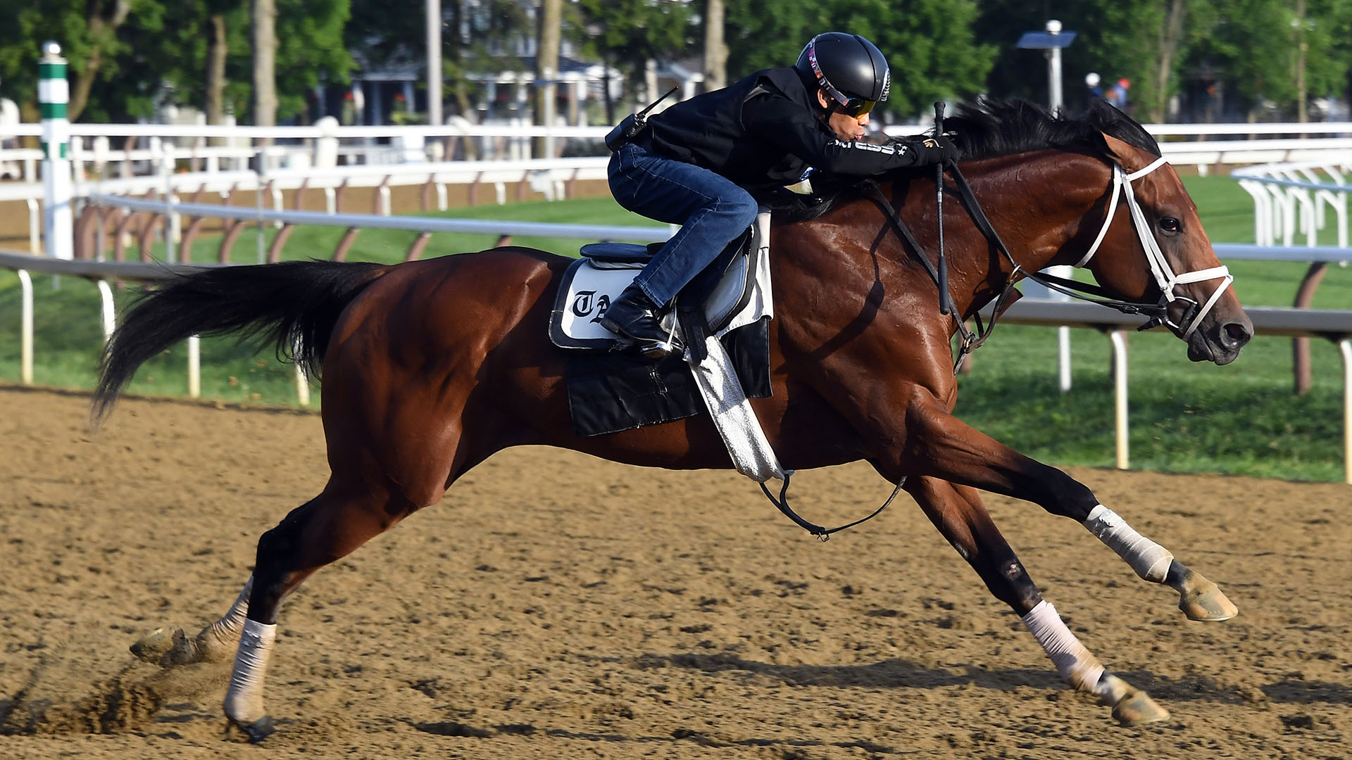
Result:
[[[38,108],[42,115],[43,243],[53,258],[74,258],[74,210],[70,180],[70,85],[66,60],[55,42],[42,43]]]

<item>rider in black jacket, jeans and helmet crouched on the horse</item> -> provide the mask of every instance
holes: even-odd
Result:
[[[610,304],[602,327],[652,358],[671,353],[662,310],[752,224],[757,193],[814,169],[868,177],[956,158],[944,137],[859,139],[890,85],[887,60],[872,42],[833,31],[808,41],[794,66],[756,72],[615,127],[606,138],[615,200],[681,229]]]

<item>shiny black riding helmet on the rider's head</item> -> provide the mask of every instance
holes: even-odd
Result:
[[[814,37],[794,68],[804,82],[817,82],[830,95],[834,103],[827,104],[827,112],[837,110],[849,116],[863,116],[887,100],[892,84],[882,51],[863,37],[842,31]]]

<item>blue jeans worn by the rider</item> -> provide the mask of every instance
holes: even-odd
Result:
[[[667,306],[687,283],[756,220],[749,192],[721,174],[627,143],[610,157],[610,192],[625,208],[681,224],[634,279]]]

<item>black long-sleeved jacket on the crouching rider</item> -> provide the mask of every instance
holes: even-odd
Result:
[[[649,118],[638,139],[752,191],[798,183],[808,168],[863,177],[932,162],[918,145],[840,139],[815,99],[792,68],[764,69]]]

